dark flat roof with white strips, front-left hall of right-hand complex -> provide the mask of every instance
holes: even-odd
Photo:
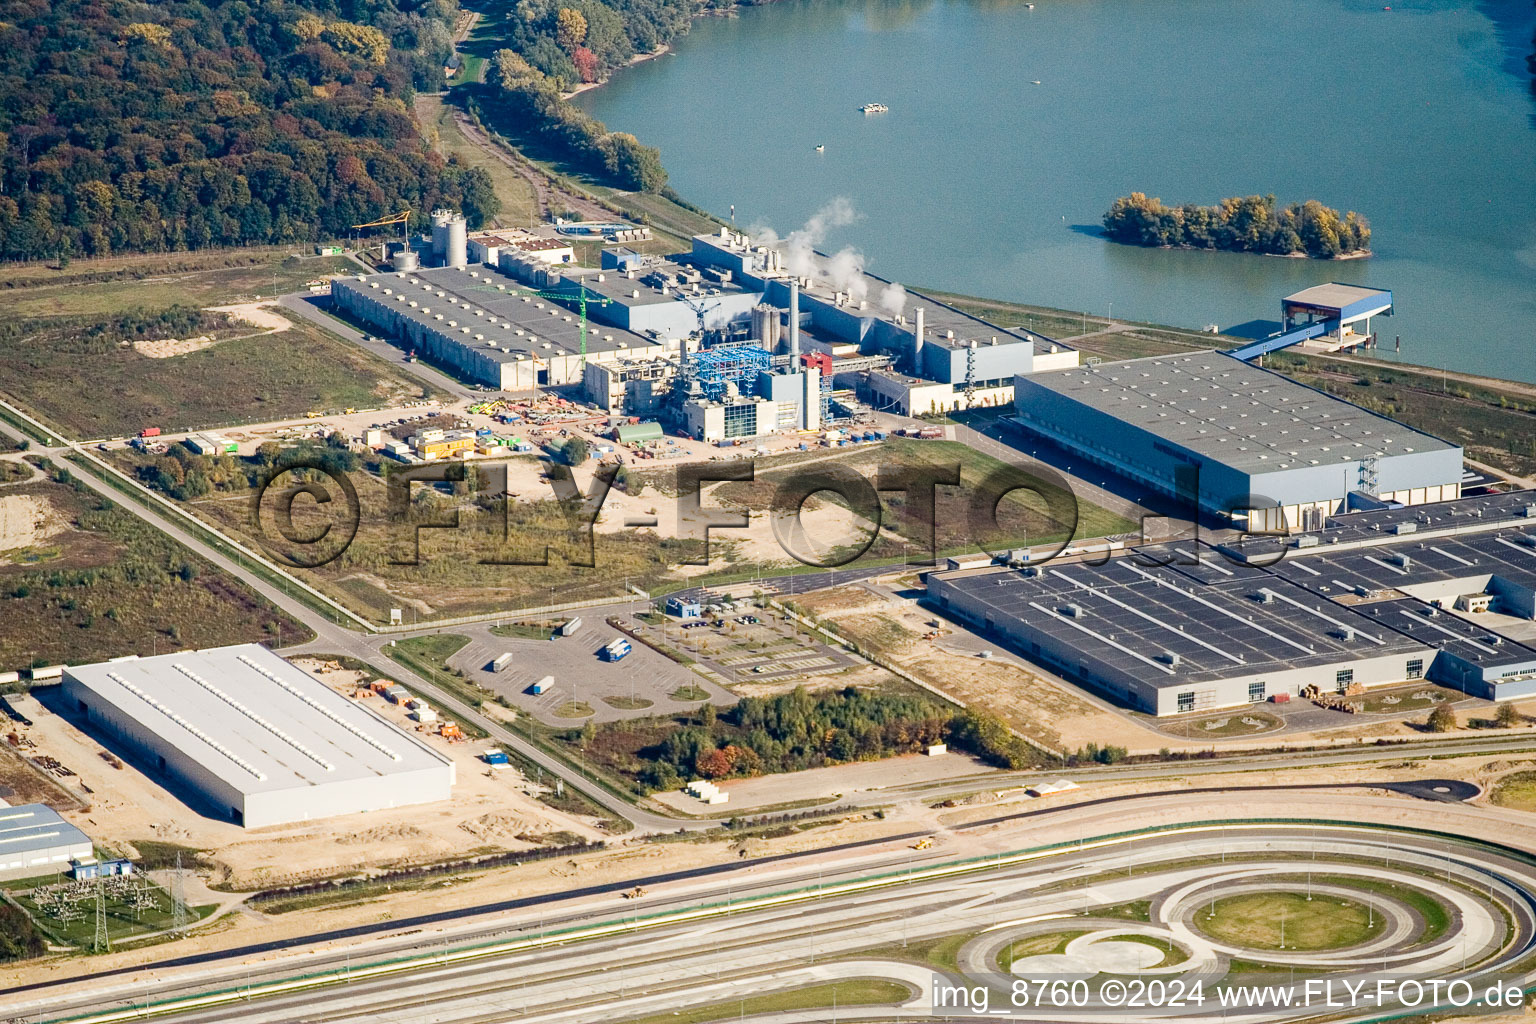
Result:
[[[1101,663],[1158,688],[1424,649],[1273,576],[1233,573],[1198,583],[1172,568],[1117,557],[1100,567],[954,573],[945,583],[989,606],[1003,631],[1021,622],[1069,637]],[[1177,665],[1167,656],[1177,656]]]

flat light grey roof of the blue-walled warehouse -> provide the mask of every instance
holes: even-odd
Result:
[[[1220,352],[1049,370],[1025,379],[1247,473],[1456,450]]]

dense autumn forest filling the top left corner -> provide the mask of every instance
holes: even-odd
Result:
[[[490,178],[418,132],[450,0],[0,0],[0,258],[295,243]]]

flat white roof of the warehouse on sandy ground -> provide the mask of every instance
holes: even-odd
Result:
[[[257,643],[66,674],[244,794],[444,765],[416,737]]]

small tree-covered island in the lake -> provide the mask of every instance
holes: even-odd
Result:
[[[1104,233],[1129,246],[1167,246],[1306,255],[1335,259],[1370,250],[1370,224],[1353,210],[1339,215],[1316,200],[1281,209],[1273,195],[1223,200],[1215,206],[1164,206],[1132,192],[1104,213]]]

